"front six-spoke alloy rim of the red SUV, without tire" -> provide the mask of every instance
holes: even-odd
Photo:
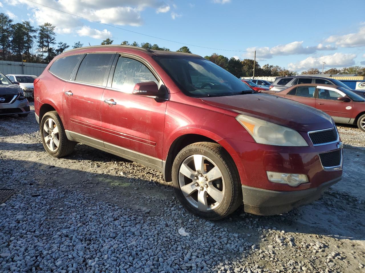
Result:
[[[208,211],[222,203],[223,175],[211,159],[199,154],[187,157],[180,166],[178,179],[184,197],[197,209]]]

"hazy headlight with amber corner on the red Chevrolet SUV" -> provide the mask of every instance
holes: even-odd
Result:
[[[236,117],[257,143],[276,146],[308,146],[299,132],[262,119],[246,115]]]

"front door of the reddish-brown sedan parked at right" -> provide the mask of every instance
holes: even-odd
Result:
[[[349,123],[353,112],[353,102],[337,100],[346,94],[333,87],[317,86],[316,108],[326,112],[336,122]]]

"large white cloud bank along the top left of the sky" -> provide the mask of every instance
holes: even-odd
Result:
[[[84,26],[85,21],[72,13],[97,22],[115,25],[141,26],[145,9],[154,9],[157,13],[170,11],[170,5],[164,0],[37,0],[43,4],[64,12],[43,7],[26,0],[4,0],[13,6],[28,7],[29,20],[37,24],[51,23],[57,33],[77,32]],[[180,15],[172,16],[173,19]],[[104,32],[104,31],[102,31]]]

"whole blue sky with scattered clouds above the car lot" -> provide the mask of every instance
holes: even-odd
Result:
[[[253,59],[256,50],[261,66],[297,72],[322,70],[322,62],[325,70],[365,66],[364,8],[365,0],[0,0],[0,12],[15,23],[49,22],[57,42],[69,45],[110,37],[239,59]]]

